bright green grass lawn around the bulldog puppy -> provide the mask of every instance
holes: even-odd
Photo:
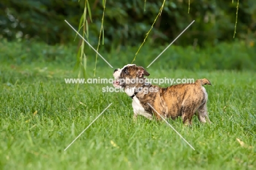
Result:
[[[1,64],[0,169],[256,167],[254,72],[147,69],[150,78],[211,81],[212,86],[205,86],[211,125],[201,125],[196,116],[192,128],[183,126],[181,119],[168,120],[194,151],[165,122],[143,117],[133,122],[131,99],[125,93],[102,93],[102,87],[111,84],[80,85],[76,93],[75,85],[64,81],[77,76],[67,65]],[[99,67],[96,77],[112,78],[112,72],[108,66]]]

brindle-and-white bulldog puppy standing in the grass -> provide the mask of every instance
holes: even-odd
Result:
[[[159,120],[161,116],[172,119],[182,116],[183,123],[191,125],[193,115],[197,111],[200,122],[211,123],[206,107],[208,95],[205,87],[202,86],[211,85],[207,79],[196,80],[193,84],[161,88],[148,83],[144,76],[149,76],[149,73],[143,67],[136,65],[115,69],[113,75],[114,87],[124,88],[125,93],[132,98],[135,119],[137,115],[143,115],[150,120],[153,115]]]

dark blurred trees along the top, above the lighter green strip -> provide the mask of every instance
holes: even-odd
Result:
[[[255,0],[241,1],[237,18],[237,38],[255,38]],[[83,14],[83,0],[2,0],[0,2],[0,31],[2,37],[37,38],[48,44],[69,43],[74,39],[75,28]],[[104,15],[104,46],[139,45],[148,32],[162,2],[106,1]],[[92,22],[89,18],[89,39],[97,45],[101,27],[102,1],[90,1]],[[215,45],[233,40],[236,19],[236,1],[190,0],[166,1],[161,16],[156,21],[146,43],[161,45],[170,43],[187,27],[195,23],[175,42],[176,45]]]

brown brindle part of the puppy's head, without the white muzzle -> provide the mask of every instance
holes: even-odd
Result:
[[[146,83],[144,76],[149,76],[149,73],[143,67],[136,65],[125,66],[119,76],[119,85],[121,87],[143,85]]]

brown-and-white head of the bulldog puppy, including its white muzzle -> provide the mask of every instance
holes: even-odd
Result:
[[[114,87],[121,88],[125,86],[136,86],[138,80],[143,80],[140,82],[144,83],[144,76],[149,76],[150,74],[141,66],[126,65],[121,69],[115,69],[113,75],[115,78],[113,82]]]

